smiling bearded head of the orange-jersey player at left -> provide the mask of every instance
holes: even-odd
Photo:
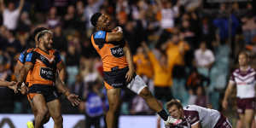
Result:
[[[36,35],[36,40],[38,41],[38,47],[43,49],[52,49],[53,32],[48,29],[40,31]]]

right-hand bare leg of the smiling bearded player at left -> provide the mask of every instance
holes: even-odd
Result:
[[[63,119],[61,116],[61,102],[59,99],[47,102],[47,107],[49,109],[49,115],[55,122],[54,128],[63,128]]]

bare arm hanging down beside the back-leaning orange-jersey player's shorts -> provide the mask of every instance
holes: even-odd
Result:
[[[125,42],[125,46],[123,49],[124,49],[126,61],[128,62],[128,67],[129,67],[129,71],[128,71],[128,73],[126,73],[125,79],[127,80],[127,82],[129,82],[129,81],[131,81],[131,79],[135,73],[135,69],[134,69],[134,65],[133,65],[131,50],[130,50],[127,42]]]

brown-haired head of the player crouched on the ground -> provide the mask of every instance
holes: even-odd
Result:
[[[178,100],[173,99],[170,102],[167,102],[166,108],[173,118],[183,118],[183,105]]]

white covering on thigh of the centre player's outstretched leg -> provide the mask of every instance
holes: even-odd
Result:
[[[143,81],[143,79],[136,75],[134,79],[131,80],[131,82],[127,85],[127,88],[132,90],[133,92],[140,94],[140,92],[147,87],[147,84]]]

